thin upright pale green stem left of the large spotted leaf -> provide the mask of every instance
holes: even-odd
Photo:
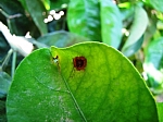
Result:
[[[13,51],[12,68],[11,68],[11,76],[12,76],[12,78],[13,78],[14,73],[15,73],[15,66],[16,66],[16,51]]]

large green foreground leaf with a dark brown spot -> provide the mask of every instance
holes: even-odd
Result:
[[[136,69],[99,42],[26,57],[7,107],[9,122],[158,122],[155,101]]]

